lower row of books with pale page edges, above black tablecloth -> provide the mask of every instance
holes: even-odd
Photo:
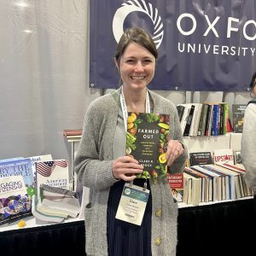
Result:
[[[248,189],[244,180],[245,172],[241,164],[186,166],[183,177],[173,174],[168,179],[172,193],[176,192],[173,195],[177,201],[198,206],[200,203],[237,200],[252,196],[253,191]]]

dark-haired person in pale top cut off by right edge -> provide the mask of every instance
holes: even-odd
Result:
[[[250,84],[252,101],[248,102],[241,136],[241,162],[246,168],[247,186],[256,195],[256,72]]]

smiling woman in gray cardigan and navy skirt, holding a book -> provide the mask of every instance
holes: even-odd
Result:
[[[176,106],[148,90],[158,52],[148,32],[127,29],[114,57],[121,86],[90,103],[75,158],[75,172],[90,188],[84,209],[87,255],[176,255],[177,203],[166,177],[136,178],[143,166],[125,155],[127,113],[170,114],[166,151],[171,172],[183,172],[187,150]],[[125,183],[150,191],[141,225],[115,218]],[[125,191],[125,190],[124,190]]]

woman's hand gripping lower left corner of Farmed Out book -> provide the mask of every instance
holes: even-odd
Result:
[[[120,156],[113,161],[112,172],[114,178],[131,181],[136,178],[136,174],[143,172],[143,166],[130,156]]]

